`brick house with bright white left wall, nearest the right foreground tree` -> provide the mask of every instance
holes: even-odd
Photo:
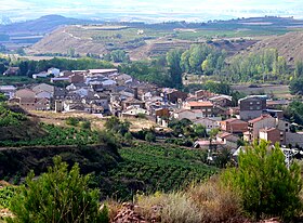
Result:
[[[276,128],[264,128],[259,131],[259,139],[269,141],[272,145],[285,144],[285,133]]]

